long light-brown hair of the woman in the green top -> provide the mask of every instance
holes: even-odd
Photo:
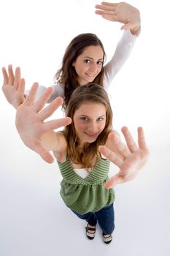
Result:
[[[85,143],[81,151],[79,151],[80,140],[77,136],[74,122],[72,121],[72,124],[66,126],[63,132],[68,143],[67,154],[69,159],[89,169],[93,167],[94,159],[95,162],[98,161],[98,146],[106,143],[109,132],[112,129],[112,108],[104,88],[96,83],[88,83],[74,90],[66,107],[66,116],[69,116],[73,120],[75,111],[80,108],[80,105],[86,102],[100,103],[106,108],[106,124],[101,134],[98,135],[98,138],[93,143]]]

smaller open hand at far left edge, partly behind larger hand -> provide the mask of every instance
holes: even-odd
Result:
[[[20,67],[15,69],[15,75],[12,69],[12,65],[8,66],[8,72],[5,67],[2,68],[2,74],[4,76],[4,83],[2,85],[2,91],[7,101],[14,107],[18,108],[25,100],[25,80],[20,78]]]

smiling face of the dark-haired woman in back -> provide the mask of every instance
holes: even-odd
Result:
[[[77,80],[80,85],[93,82],[101,72],[104,61],[104,52],[100,45],[90,45],[83,50],[72,64],[77,72]]]

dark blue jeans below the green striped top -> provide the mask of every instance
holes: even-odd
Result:
[[[88,212],[87,214],[79,214],[77,211],[73,211],[80,219],[85,219],[89,225],[98,225],[101,227],[102,233],[112,234],[115,229],[115,214],[113,204],[101,208],[99,211]]]

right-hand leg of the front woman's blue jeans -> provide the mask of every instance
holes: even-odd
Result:
[[[115,229],[115,214],[113,204],[95,212],[99,226],[104,234],[112,234]]]

